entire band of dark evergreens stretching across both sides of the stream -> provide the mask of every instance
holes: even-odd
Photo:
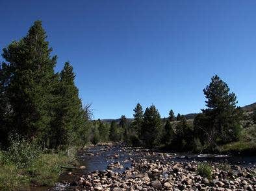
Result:
[[[138,103],[132,121],[122,115],[110,124],[92,120],[90,104],[83,106],[70,62],[55,73],[57,56],[46,41],[41,21],[35,21],[19,41],[3,49],[0,67],[0,146],[9,137],[36,140],[43,148],[70,144],[122,141],[134,146],[164,146],[172,150],[215,150],[237,140],[242,110],[237,97],[219,76],[213,76],[203,93],[207,109],[196,118],[170,110],[162,119],[152,104],[144,110]],[[252,118],[256,121],[256,111]]]

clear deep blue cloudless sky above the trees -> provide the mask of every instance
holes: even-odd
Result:
[[[43,21],[95,118],[132,117],[137,102],[199,112],[214,74],[238,106],[256,101],[256,1],[0,0],[0,17],[1,49]]]

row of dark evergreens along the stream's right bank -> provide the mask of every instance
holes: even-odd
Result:
[[[164,146],[170,150],[196,152],[214,151],[220,144],[238,140],[244,115],[236,106],[235,93],[230,92],[228,85],[217,75],[211,78],[203,93],[207,109],[201,109],[194,120],[186,120],[185,115],[180,114],[175,117],[172,109],[169,117],[162,119],[153,104],[144,111],[138,103],[133,110],[134,120],[130,123],[126,120],[122,125],[124,140],[148,148]]]

